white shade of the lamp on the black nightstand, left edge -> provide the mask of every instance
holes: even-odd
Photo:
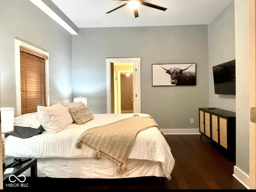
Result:
[[[14,108],[0,108],[2,133],[13,132]]]

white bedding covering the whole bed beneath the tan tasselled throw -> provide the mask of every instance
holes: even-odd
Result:
[[[67,165],[69,167],[72,165],[72,162],[84,162],[84,164],[88,163],[91,167],[91,172],[93,171],[95,176],[99,177],[100,174],[102,174],[101,168],[96,168],[97,164],[102,164],[104,161],[106,161],[106,164],[112,164],[112,167],[105,165],[104,172],[106,174],[110,172],[110,174],[107,174],[106,177],[99,177],[99,178],[118,178],[118,177],[134,177],[136,176],[150,176],[148,174],[152,174],[152,176],[161,176],[161,170],[157,170],[159,172],[158,174],[153,174],[156,170],[154,168],[152,169],[152,173],[145,172],[143,173],[143,165],[140,165],[142,168],[138,168],[140,172],[142,173],[135,173],[136,168],[134,167],[134,164],[127,164],[128,172],[122,174],[122,176],[115,176],[116,173],[112,171],[112,168],[114,169],[116,167],[116,164],[114,162],[111,162],[111,160],[103,158],[101,160],[95,160],[93,159],[94,156],[94,150],[91,148],[83,145],[82,148],[76,148],[76,142],[78,137],[88,128],[92,128],[95,126],[101,126],[104,124],[108,124],[117,120],[120,120],[122,118],[128,118],[133,116],[134,114],[94,114],[94,119],[90,120],[89,122],[86,122],[83,125],[78,125],[76,123],[73,123],[63,130],[61,130],[58,133],[52,134],[43,132],[42,134],[39,134],[37,136],[33,136],[31,138],[21,139],[14,136],[8,136],[5,138],[5,154],[6,156],[11,157],[36,157],[38,158],[38,176],[49,176],[49,174],[52,172],[53,177],[60,177],[60,178],[66,178],[66,177],[74,177],[76,178],[76,175],[79,175],[82,168],[81,166],[76,165],[77,168],[80,167],[81,170],[74,170],[77,171],[76,174],[68,174],[68,171],[65,172],[65,174],[57,173],[62,172],[63,166]],[[148,116],[148,114],[138,114],[139,116]],[[124,130],[125,131],[125,130]],[[88,159],[90,158],[90,159]],[[174,167],[174,158],[172,156],[170,147],[168,146],[168,143],[158,130],[158,128],[148,128],[146,130],[141,131],[138,133],[136,140],[134,141],[134,144],[132,146],[132,149],[130,151],[130,154],[128,156],[128,160],[134,160],[133,162],[139,162],[138,160],[143,160],[142,162],[149,161],[149,164],[152,163],[148,168],[154,167],[153,165],[159,164],[162,166],[162,173],[164,173],[164,176],[168,179],[171,179],[171,172]],[[49,162],[47,162],[49,160]],[[64,165],[60,166],[61,162],[65,161]],[[81,160],[81,161],[80,161]],[[56,164],[52,167],[56,167],[56,170],[54,173],[54,170],[48,171],[48,174],[45,174],[45,170],[47,171],[47,164],[51,162],[56,162]],[[51,167],[48,165],[49,168]],[[111,165],[110,165],[111,166]],[[92,169],[92,167],[94,167]],[[100,171],[97,173],[97,169]],[[157,168],[155,168],[157,169]],[[133,174],[131,170],[134,170]],[[150,170],[150,169],[148,169]],[[88,171],[88,170],[87,170]],[[146,171],[146,170],[145,170]],[[42,173],[40,173],[42,172]],[[84,170],[85,172],[85,170]],[[90,178],[86,177],[82,173],[82,178]],[[92,174],[92,173],[90,173]],[[90,175],[89,174],[89,175]],[[98,174],[98,175],[97,175]],[[130,174],[130,176],[129,176]],[[145,175],[146,174],[146,175]],[[87,174],[88,175],[88,174]],[[93,178],[97,178],[93,177]]]

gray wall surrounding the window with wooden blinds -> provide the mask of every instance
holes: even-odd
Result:
[[[1,104],[16,108],[14,38],[49,53],[50,105],[72,101],[72,35],[29,0],[0,1]]]

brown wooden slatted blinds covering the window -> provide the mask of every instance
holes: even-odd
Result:
[[[37,111],[37,106],[46,106],[45,59],[43,54],[34,54],[20,47],[21,114]]]

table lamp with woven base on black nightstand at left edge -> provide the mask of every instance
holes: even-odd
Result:
[[[4,134],[13,132],[14,108],[0,108],[0,127],[2,130],[2,163],[5,164]]]

